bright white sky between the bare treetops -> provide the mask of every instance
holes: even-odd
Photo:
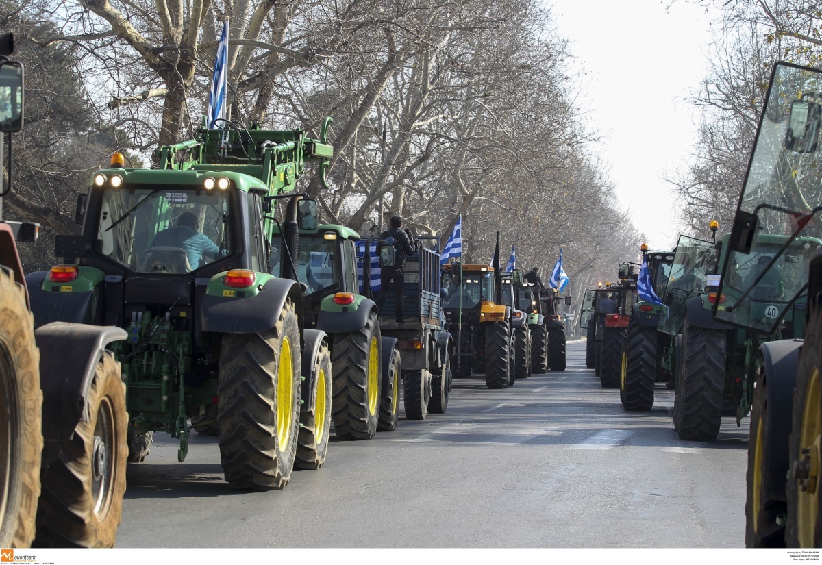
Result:
[[[579,103],[603,133],[620,208],[652,248],[672,249],[681,231],[666,172],[690,158],[699,122],[685,97],[698,89],[710,53],[704,8],[678,0],[546,0],[570,41]],[[648,135],[648,130],[653,135]],[[662,133],[663,135],[659,135]],[[705,218],[708,223],[710,218]]]

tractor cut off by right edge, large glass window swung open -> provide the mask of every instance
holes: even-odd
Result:
[[[820,92],[822,71],[774,66],[714,289],[714,319],[768,338],[746,373],[749,547],[822,546]]]

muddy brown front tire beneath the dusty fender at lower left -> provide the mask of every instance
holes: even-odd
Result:
[[[122,519],[128,457],[126,385],[104,351],[79,420],[58,459],[40,475],[36,547],[110,548]]]

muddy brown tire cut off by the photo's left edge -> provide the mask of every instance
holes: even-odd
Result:
[[[35,322],[25,290],[0,269],[0,546],[29,547],[35,538],[43,452],[43,393]]]

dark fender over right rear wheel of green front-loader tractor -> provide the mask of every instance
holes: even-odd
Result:
[[[270,278],[260,292],[247,298],[214,296],[202,299],[200,323],[204,332],[260,333],[274,328],[290,298],[302,328],[302,291],[290,278]]]

